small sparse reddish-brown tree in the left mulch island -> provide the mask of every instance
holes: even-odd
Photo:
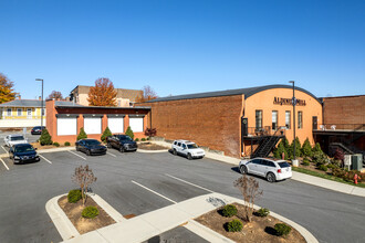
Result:
[[[88,186],[95,182],[96,179],[97,178],[94,176],[93,170],[88,169],[88,165],[85,167],[80,166],[75,168],[75,173],[72,176],[72,181],[80,186],[83,205],[85,205]]]

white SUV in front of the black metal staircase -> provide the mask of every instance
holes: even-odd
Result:
[[[239,163],[241,173],[253,173],[267,178],[269,182],[284,180],[292,177],[292,168],[285,160],[271,160],[254,158],[241,160]]]

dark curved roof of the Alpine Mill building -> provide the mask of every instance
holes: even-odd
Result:
[[[219,91],[219,92],[206,92],[206,93],[197,93],[197,94],[188,94],[188,95],[176,95],[176,96],[155,98],[155,99],[148,101],[146,103],[170,102],[170,101],[191,99],[191,98],[208,98],[208,97],[231,96],[231,95],[244,95],[244,99],[247,99],[248,97],[250,97],[259,92],[272,89],[272,88],[293,89],[293,86],[275,84],[275,85],[265,85],[265,86],[257,86],[257,87],[248,87],[248,88],[227,89],[227,91]],[[312,96],[316,101],[319,101],[317,97],[315,97],[312,93],[310,93],[301,87],[295,87],[295,91],[301,91],[301,92]]]

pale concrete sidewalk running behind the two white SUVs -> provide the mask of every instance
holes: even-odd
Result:
[[[166,141],[153,141],[153,142],[155,142],[157,145],[166,146],[169,148],[171,147],[171,145]],[[206,151],[206,158],[215,159],[215,160],[218,160],[221,162],[227,162],[227,163],[230,163],[233,166],[238,166],[240,162],[240,159],[228,157],[228,156],[222,156],[222,155],[218,155],[218,154],[209,152],[209,151]],[[345,184],[345,183],[341,183],[341,182],[336,182],[336,181],[332,181],[332,180],[326,180],[323,178],[313,177],[313,176],[296,172],[296,171],[293,171],[292,179],[304,182],[304,183],[313,184],[316,187],[325,188],[328,190],[338,191],[342,193],[365,197],[365,188],[359,188],[359,187]]]

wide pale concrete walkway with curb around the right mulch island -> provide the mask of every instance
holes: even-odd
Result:
[[[192,220],[223,204],[232,202],[243,203],[242,200],[220,193],[204,194],[79,235],[65,242],[144,242],[186,223],[187,224],[184,226],[189,230],[191,229],[192,232],[199,234],[209,242],[232,242]],[[259,207],[255,205],[255,209],[259,209]],[[317,243],[317,240],[303,226],[279,214],[272,213],[272,215],[298,230],[306,242]]]

